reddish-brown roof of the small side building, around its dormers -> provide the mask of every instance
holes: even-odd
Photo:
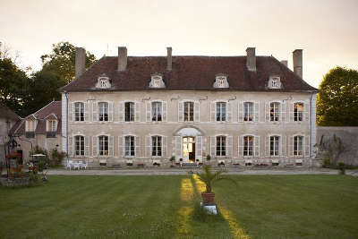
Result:
[[[61,134],[62,124],[61,124],[61,101],[52,101],[46,107],[39,109],[36,113],[31,114],[23,118],[18,124],[14,124],[10,133],[13,135],[22,135],[25,134],[25,122],[28,118],[36,118],[38,120],[38,125],[36,127],[35,133],[45,134],[46,133],[46,121],[47,119],[57,118],[57,130],[56,134]]]

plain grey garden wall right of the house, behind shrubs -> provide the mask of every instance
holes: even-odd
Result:
[[[344,152],[339,161],[345,164],[358,166],[358,127],[317,127],[317,142],[321,135],[333,137],[336,134],[345,144],[349,151]]]

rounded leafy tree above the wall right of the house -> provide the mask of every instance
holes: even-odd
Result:
[[[358,126],[358,71],[337,66],[320,83],[317,124]]]

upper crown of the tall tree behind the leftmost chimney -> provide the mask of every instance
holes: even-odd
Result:
[[[76,48],[69,42],[53,44],[50,55],[41,55],[42,71],[55,73],[64,82],[69,83],[74,77]],[[86,69],[96,62],[95,55],[86,52]]]

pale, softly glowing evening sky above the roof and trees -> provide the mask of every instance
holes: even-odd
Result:
[[[303,79],[314,87],[329,69],[358,70],[358,0],[0,0],[0,41],[22,68],[69,41],[97,58],[117,55],[273,55],[303,49]]]

